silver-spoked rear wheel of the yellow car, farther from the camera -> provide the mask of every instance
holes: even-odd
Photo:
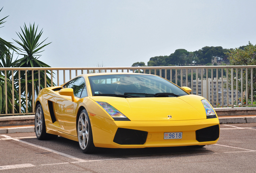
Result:
[[[35,135],[37,136],[37,139],[39,140],[56,139],[58,135],[52,135],[52,134],[46,133],[45,119],[44,119],[43,108],[41,104],[37,105],[35,110],[36,110],[35,111]]]

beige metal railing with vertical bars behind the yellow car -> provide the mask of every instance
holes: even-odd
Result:
[[[191,94],[205,97],[213,107],[256,106],[256,66],[0,68],[0,116],[34,114],[35,98],[42,88],[95,72],[155,74],[190,87]]]

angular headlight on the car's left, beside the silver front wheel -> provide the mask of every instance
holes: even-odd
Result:
[[[119,121],[130,121],[124,114],[120,113],[116,108],[112,107],[106,102],[96,101],[107,113],[114,119]]]

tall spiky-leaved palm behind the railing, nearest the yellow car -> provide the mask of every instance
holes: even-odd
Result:
[[[50,43],[43,44],[45,40],[42,42],[39,42],[39,39],[43,33],[41,30],[37,34],[37,28],[35,28],[35,23],[33,25],[29,25],[29,27],[24,26],[24,28],[21,28],[21,33],[17,33],[21,41],[14,40],[21,46],[21,48],[18,48],[21,53],[19,55],[22,55],[23,58],[14,61],[14,67],[50,67],[49,65],[45,64],[44,62],[38,60],[38,58],[41,56],[39,53],[43,52],[43,48],[47,46]],[[50,74],[50,72],[47,71],[47,74]],[[38,71],[34,72],[34,89],[36,91],[36,94],[38,94],[39,87],[38,86]],[[44,79],[44,71],[40,72],[40,80]],[[47,76],[47,75],[46,75]],[[16,73],[14,78],[19,78],[18,74]],[[33,84],[32,84],[32,71],[28,70],[27,72],[27,81],[25,79],[25,71],[21,71],[21,93],[23,95],[23,98],[25,98],[25,91],[26,91],[26,82],[27,82],[27,98],[28,98],[28,110],[32,111],[32,93],[33,93]],[[47,87],[50,86],[51,79],[47,76],[46,79]],[[41,87],[43,88],[45,86],[44,80],[41,80],[40,82]],[[25,100],[22,100],[22,102],[25,104]]]

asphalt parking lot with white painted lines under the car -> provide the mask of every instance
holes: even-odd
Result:
[[[220,125],[215,145],[99,149],[84,154],[62,137],[39,141],[35,133],[0,134],[0,173],[256,172],[256,123]]]

